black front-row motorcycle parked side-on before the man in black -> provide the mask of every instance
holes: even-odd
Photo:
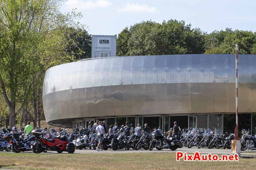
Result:
[[[175,151],[177,148],[183,147],[176,136],[166,139],[157,129],[154,130],[151,135],[153,136],[153,139],[149,145],[149,151],[152,151],[153,148],[156,148],[157,150],[171,149],[172,151]]]

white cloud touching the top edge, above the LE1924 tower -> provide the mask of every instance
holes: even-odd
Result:
[[[84,0],[68,0],[65,2],[64,6],[67,10],[77,9],[79,11],[90,10],[96,8],[107,8],[112,3],[108,0],[94,0],[94,1],[84,1]]]

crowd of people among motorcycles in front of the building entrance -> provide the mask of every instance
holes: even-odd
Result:
[[[180,127],[177,126],[177,122],[174,122],[173,124],[174,124],[173,128],[171,128],[169,131],[166,132],[167,138],[180,136],[180,132],[181,132]],[[99,141],[98,147],[96,149],[97,151],[102,151],[101,143],[105,133],[114,134],[115,132],[119,131],[119,132],[124,132],[126,136],[130,136],[130,134],[132,133],[129,122],[126,122],[125,126],[122,125],[120,129],[118,128],[118,124],[115,123],[115,125],[110,125],[109,129],[107,130],[106,122],[105,121],[101,122],[97,120],[94,124],[92,124],[92,122],[89,122],[88,129],[92,130],[93,133],[96,134],[96,139],[98,139]],[[137,124],[137,127],[135,128],[135,135],[141,136],[141,130],[144,130],[147,133],[151,133],[151,129],[148,127],[147,123],[144,124],[144,127],[140,126],[140,124]],[[162,131],[160,127],[158,127],[157,130]]]

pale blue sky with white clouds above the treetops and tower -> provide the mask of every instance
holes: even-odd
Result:
[[[114,35],[143,20],[184,20],[204,32],[256,31],[256,1],[246,0],[68,0],[61,11],[82,12],[79,21],[90,34]]]

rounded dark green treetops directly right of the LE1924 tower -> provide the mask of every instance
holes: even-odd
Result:
[[[117,55],[171,55],[204,53],[204,34],[184,21],[162,24],[143,21],[118,34]]]

